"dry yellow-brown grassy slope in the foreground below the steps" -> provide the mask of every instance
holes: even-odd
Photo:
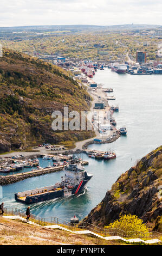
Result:
[[[32,237],[31,237],[32,236]],[[44,240],[43,240],[44,239]],[[34,227],[0,217],[0,245],[124,245],[62,230]]]

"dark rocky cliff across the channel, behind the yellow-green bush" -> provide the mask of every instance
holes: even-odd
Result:
[[[137,215],[151,230],[162,231],[162,146],[122,174],[111,191],[83,220],[103,227],[120,214]]]

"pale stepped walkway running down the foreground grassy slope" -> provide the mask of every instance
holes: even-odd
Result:
[[[25,223],[28,223],[28,224],[31,224],[31,225],[35,225],[37,227],[42,227],[42,225],[39,225],[35,222],[32,222],[32,221],[28,221],[19,216],[19,215],[15,215],[15,216],[4,216],[3,218],[8,218],[9,220],[19,220],[19,221],[22,221],[22,222],[25,222]],[[96,234],[90,230],[79,230],[79,231],[72,231],[70,229],[67,229],[67,228],[64,228],[62,227],[61,225],[46,225],[46,226],[43,226],[43,228],[50,228],[50,229],[60,229],[60,230],[64,230],[64,231],[68,231],[70,233],[73,233],[73,234],[83,234],[83,235],[93,235],[95,237],[99,237],[100,239],[104,239],[104,240],[121,240],[121,241],[125,241],[125,242],[129,242],[129,243],[139,243],[139,242],[142,242],[142,243],[145,243],[145,244],[153,244],[153,243],[160,243],[161,241],[159,239],[150,239],[150,240],[142,240],[142,239],[139,239],[139,238],[134,238],[134,239],[125,239],[121,236],[101,236],[99,234]]]

